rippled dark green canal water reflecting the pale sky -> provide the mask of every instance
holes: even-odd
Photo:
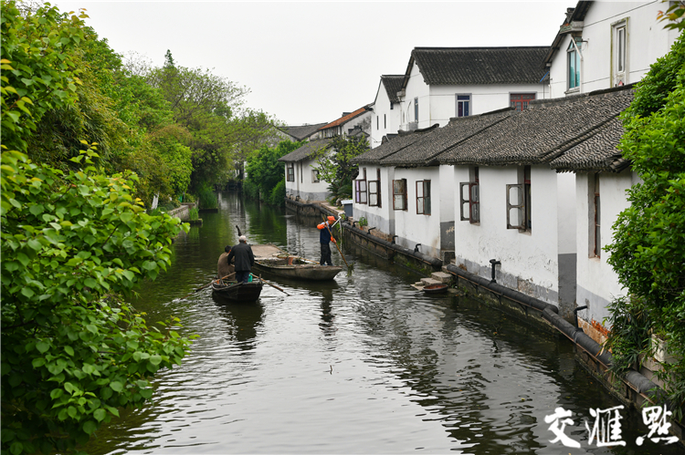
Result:
[[[181,367],[153,379],[153,402],[100,429],[89,453],[679,453],[647,441],[638,411],[598,447],[590,408],[620,403],[574,361],[565,339],[478,301],[427,296],[420,276],[347,245],[327,283],[272,278],[255,304],[216,302],[207,284],[237,230],[319,258],[319,220],[219,194],[219,212],[174,243],[167,274],[140,289],[148,322],[175,315],[196,334]],[[333,250],[334,264],[342,264]],[[564,447],[545,416],[571,411]],[[614,417],[614,411],[611,416]],[[563,424],[559,425],[559,428]],[[609,441],[612,442],[612,441]],[[600,441],[601,443],[601,441]]]

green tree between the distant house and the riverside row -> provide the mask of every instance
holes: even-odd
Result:
[[[329,149],[317,155],[316,169],[319,178],[329,183],[332,202],[352,198],[352,182],[359,173],[359,167],[352,160],[366,150],[369,142],[364,136],[337,136]]]

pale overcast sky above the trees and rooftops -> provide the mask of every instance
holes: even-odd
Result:
[[[119,54],[212,69],[247,105],[288,125],[330,122],[372,103],[414,47],[550,46],[567,2],[169,2],[53,0],[86,8]]]

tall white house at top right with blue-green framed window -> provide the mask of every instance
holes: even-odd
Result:
[[[552,98],[638,82],[680,35],[664,30],[668,3],[578,2],[544,57]]]

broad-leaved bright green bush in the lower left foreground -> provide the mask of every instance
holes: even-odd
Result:
[[[185,355],[177,319],[148,326],[119,297],[166,269],[182,229],[144,212],[136,180],[2,153],[3,453],[73,449]]]

